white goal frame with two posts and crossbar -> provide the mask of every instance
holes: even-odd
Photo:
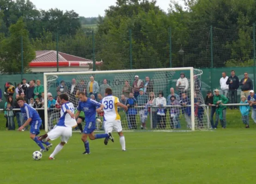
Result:
[[[129,69],[129,70],[104,70],[104,71],[75,71],[75,72],[47,72],[43,73],[43,88],[44,88],[44,120],[45,132],[48,132],[48,111],[47,111],[47,76],[48,75],[93,75],[106,73],[134,73],[134,72],[156,72],[156,71],[189,71],[190,72],[190,96],[194,97],[194,68],[165,68],[165,69]],[[195,109],[194,98],[191,98],[191,130],[195,131]]]

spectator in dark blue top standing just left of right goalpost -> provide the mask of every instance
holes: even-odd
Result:
[[[181,95],[180,104],[182,106],[182,114],[184,115],[185,120],[187,122],[187,128],[192,128],[191,127],[191,106],[190,106],[191,102],[185,92],[183,92]]]

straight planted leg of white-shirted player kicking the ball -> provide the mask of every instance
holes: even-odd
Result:
[[[49,160],[54,160],[54,156],[57,155],[63,148],[67,141],[72,136],[72,128],[71,127],[60,127],[61,130],[61,143],[55,147],[53,153],[49,156]]]

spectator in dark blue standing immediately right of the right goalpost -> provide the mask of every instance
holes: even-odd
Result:
[[[195,118],[197,119],[198,122],[198,127],[199,129],[203,129],[203,115],[204,115],[204,109],[201,106],[202,105],[202,100],[196,95],[196,92],[194,93],[194,102],[195,102]]]

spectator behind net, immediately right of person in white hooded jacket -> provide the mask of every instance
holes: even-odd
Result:
[[[170,102],[168,103],[170,103],[170,105],[179,105],[179,101],[176,99],[175,95],[170,97]],[[179,121],[180,109],[178,107],[171,107],[169,110],[169,115],[171,120],[171,129],[181,128]]]

